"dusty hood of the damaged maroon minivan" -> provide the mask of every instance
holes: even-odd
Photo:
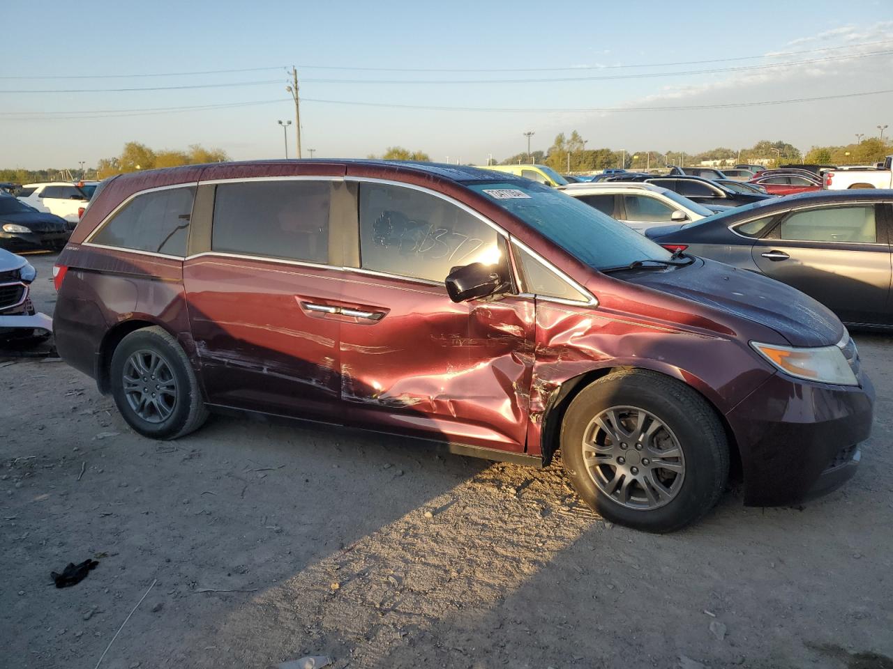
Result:
[[[770,327],[791,346],[829,346],[845,332],[827,307],[796,288],[714,260],[698,258],[685,268],[615,276]]]

